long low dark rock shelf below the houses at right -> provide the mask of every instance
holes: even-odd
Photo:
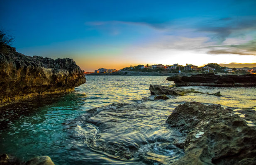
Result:
[[[256,74],[215,75],[214,73],[188,76],[171,76],[166,80],[178,86],[249,87],[256,86]]]

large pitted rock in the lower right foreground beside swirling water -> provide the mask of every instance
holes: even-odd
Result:
[[[185,156],[174,165],[254,165],[256,128],[230,109],[190,102],[179,105],[166,121],[186,135]]]

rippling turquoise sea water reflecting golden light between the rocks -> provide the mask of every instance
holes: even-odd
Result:
[[[223,97],[197,93],[154,101],[149,85],[173,85],[166,76],[86,79],[72,93],[1,107],[0,153],[22,160],[48,155],[56,165],[166,164],[184,154],[172,145],[183,137],[165,123],[179,104],[256,108],[255,87],[180,87]]]

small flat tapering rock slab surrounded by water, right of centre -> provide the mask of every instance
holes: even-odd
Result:
[[[221,96],[220,92],[203,93],[203,92],[195,91],[193,89],[185,90],[185,89],[178,89],[176,87],[168,87],[168,86],[161,86],[161,85],[149,85],[149,90],[151,95],[168,94],[168,95],[175,95],[175,96],[184,96],[185,94],[189,94],[189,93],[201,93],[201,94]]]

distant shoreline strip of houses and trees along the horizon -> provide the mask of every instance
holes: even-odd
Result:
[[[120,70],[116,69],[106,69],[99,68],[94,72],[85,72],[85,74],[92,73],[114,73],[118,71],[139,71],[139,72],[160,72],[160,73],[255,73],[256,69],[253,68],[229,68],[225,66],[220,66],[216,63],[210,63],[205,66],[195,66],[193,64],[186,64],[185,66],[179,64],[173,65],[163,65],[163,64],[154,64],[154,65],[137,65],[137,66],[129,66],[122,68]]]

